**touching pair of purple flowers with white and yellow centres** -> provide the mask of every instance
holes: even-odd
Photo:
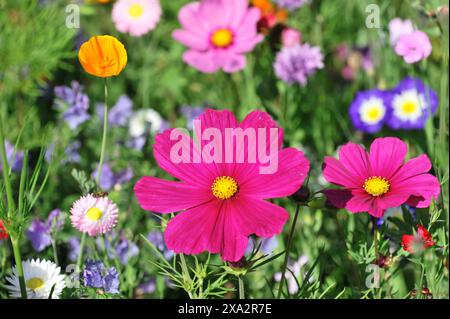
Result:
[[[398,130],[423,129],[437,111],[438,96],[420,79],[406,77],[392,90],[361,91],[350,105],[353,125],[367,133],[384,124]]]

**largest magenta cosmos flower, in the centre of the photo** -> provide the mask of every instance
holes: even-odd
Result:
[[[230,111],[208,109],[198,120],[201,132],[217,128],[223,137],[226,128],[253,128],[258,134],[260,130],[267,132],[278,128],[270,116],[261,111],[251,112],[240,124]],[[162,169],[180,181],[146,176],[134,187],[143,209],[158,213],[182,211],[167,225],[164,236],[169,249],[185,254],[209,251],[220,253],[223,260],[238,261],[244,255],[251,234],[269,238],[282,231],[289,215],[284,208],[266,199],[289,196],[298,190],[309,171],[309,162],[297,149],[281,149],[281,128],[272,140],[279,145],[275,154],[278,169],[273,174],[260,173],[261,161],[225,163],[225,152],[221,163],[216,160],[210,164],[174,164],[171,149],[178,143],[170,139],[174,130],[156,136],[154,156]],[[266,149],[258,151],[268,154],[268,133],[266,137]],[[193,140],[187,138],[186,144],[191,147]],[[233,142],[234,154],[244,151],[244,158],[247,158],[246,141]],[[202,141],[202,144],[205,143]],[[262,145],[262,142],[257,144]]]

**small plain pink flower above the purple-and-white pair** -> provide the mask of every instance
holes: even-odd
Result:
[[[406,63],[416,63],[431,54],[432,46],[425,32],[414,31],[400,37],[395,45],[395,53],[402,56]]]

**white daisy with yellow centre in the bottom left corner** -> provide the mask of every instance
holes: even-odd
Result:
[[[52,299],[59,299],[61,292],[66,287],[65,276],[61,275],[61,268],[48,260],[32,259],[22,262],[23,275],[29,299],[48,299],[52,287]],[[6,277],[10,285],[5,287],[11,297],[20,298],[20,284],[17,267],[14,266],[12,274]]]

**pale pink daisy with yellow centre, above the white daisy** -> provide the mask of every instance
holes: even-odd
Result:
[[[82,196],[70,209],[72,225],[89,236],[109,232],[117,224],[119,209],[108,197]]]

